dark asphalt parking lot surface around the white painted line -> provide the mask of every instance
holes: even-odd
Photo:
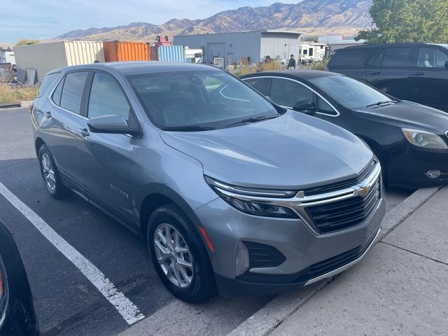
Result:
[[[28,109],[0,110],[0,144],[0,183],[96,266],[141,314],[148,317],[175,304],[142,239],[76,195],[62,201],[48,195],[34,153]],[[386,190],[388,210],[411,193]],[[117,335],[129,327],[113,304],[1,194],[0,218],[22,254],[42,335]],[[271,298],[216,297],[185,307],[197,316],[190,321],[196,323],[194,330],[225,335]],[[165,321],[162,317],[161,325],[176,323],[176,316],[166,316]]]

